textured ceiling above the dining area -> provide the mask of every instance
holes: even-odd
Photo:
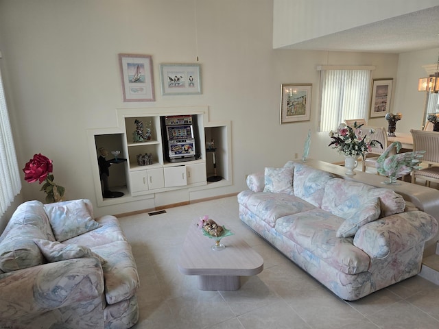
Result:
[[[328,34],[284,49],[405,53],[439,47],[439,6]]]

